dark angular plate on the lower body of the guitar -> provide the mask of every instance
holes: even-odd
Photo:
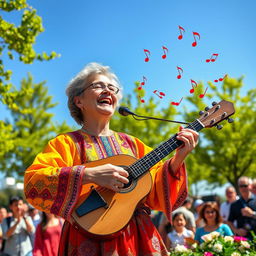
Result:
[[[99,194],[99,192],[92,186],[89,196],[79,207],[76,208],[75,211],[78,217],[82,217],[85,214],[94,211],[100,207],[104,207],[107,209],[108,204],[104,200],[104,198]]]

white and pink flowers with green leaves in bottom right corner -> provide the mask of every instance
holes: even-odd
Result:
[[[203,243],[193,243],[188,247],[178,245],[170,252],[171,256],[256,256],[256,236],[247,240],[238,236],[221,236],[212,232],[202,237]]]

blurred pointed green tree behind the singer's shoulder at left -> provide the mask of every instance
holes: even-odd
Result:
[[[53,123],[53,114],[49,110],[55,107],[56,103],[52,103],[45,82],[34,84],[32,76],[28,75],[28,78],[21,82],[21,90],[27,91],[23,97],[16,97],[16,104],[21,111],[10,109],[12,118],[5,120],[7,126],[12,125],[16,138],[15,147],[5,152],[0,160],[0,171],[9,175],[23,175],[24,170],[50,138],[71,130],[65,122]],[[29,111],[24,113],[23,110],[27,109]]]

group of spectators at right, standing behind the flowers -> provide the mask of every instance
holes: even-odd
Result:
[[[172,213],[172,223],[160,213],[156,225],[167,248],[202,243],[202,237],[213,231],[223,236],[251,239],[251,231],[256,234],[256,179],[243,176],[237,185],[239,196],[233,186],[228,186],[222,203],[202,199],[193,202],[187,198],[183,206]]]

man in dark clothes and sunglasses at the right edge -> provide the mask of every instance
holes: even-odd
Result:
[[[230,207],[228,224],[233,232],[239,236],[252,238],[250,230],[256,232],[256,199],[251,193],[252,180],[242,176],[238,180],[240,198]],[[236,221],[236,225],[234,225]]]

